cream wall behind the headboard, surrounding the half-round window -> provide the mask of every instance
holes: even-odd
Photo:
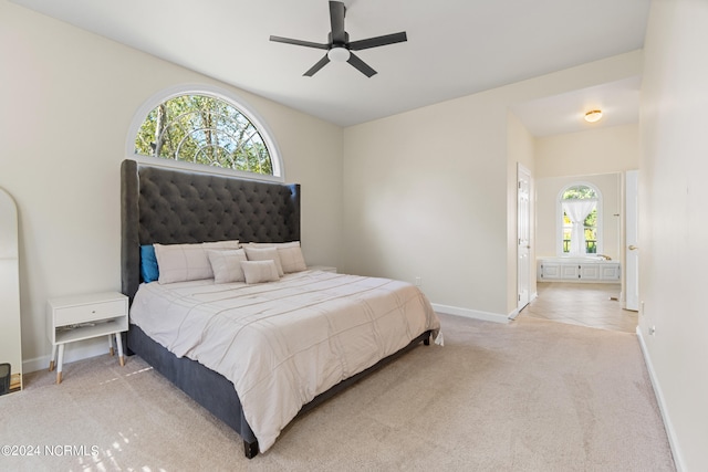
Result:
[[[0,187],[18,203],[25,371],[45,368],[48,297],[121,290],[119,165],[137,108],[160,90],[218,82],[0,0]],[[342,128],[241,96],[302,185],[309,263],[337,265]],[[105,342],[66,347],[72,360]],[[96,347],[97,346],[97,347]]]

